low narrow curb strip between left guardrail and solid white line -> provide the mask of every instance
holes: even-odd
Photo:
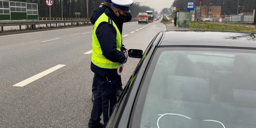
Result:
[[[1,36],[1,35],[10,35],[10,34],[20,34],[20,33],[29,33],[29,32],[46,31],[46,30],[56,30],[56,29],[64,29],[64,28],[78,28],[78,27],[86,27],[86,26],[93,26],[93,25],[81,25],[81,26],[61,27],[61,28],[47,28],[47,29],[38,29],[38,30],[6,32],[6,33],[0,33],[0,36]]]

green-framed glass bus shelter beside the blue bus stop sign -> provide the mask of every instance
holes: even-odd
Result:
[[[176,25],[179,27],[190,27],[190,11],[185,9],[179,9],[175,11],[176,13]]]

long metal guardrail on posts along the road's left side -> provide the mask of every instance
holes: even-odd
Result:
[[[1,30],[3,31],[4,26],[19,26],[19,30],[21,30],[22,25],[41,25],[41,24],[59,24],[59,23],[89,23],[90,20],[26,20],[26,21],[6,21],[0,22]]]

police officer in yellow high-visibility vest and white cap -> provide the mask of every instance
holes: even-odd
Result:
[[[106,8],[94,24],[91,71],[98,84],[89,128],[105,128],[116,103],[117,68],[127,61],[127,54],[121,51],[122,36],[116,23],[125,22],[131,4],[132,0],[112,0],[111,8]]]

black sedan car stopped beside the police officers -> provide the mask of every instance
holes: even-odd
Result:
[[[254,33],[156,35],[115,105],[108,128],[255,128]]]

